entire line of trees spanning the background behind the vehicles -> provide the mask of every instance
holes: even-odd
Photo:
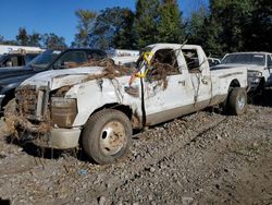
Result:
[[[73,47],[139,49],[154,43],[197,44],[211,56],[226,52],[272,51],[271,0],[210,0],[184,24],[176,0],[137,0],[136,11],[107,8],[99,14],[77,10],[77,34]],[[16,40],[0,36],[0,44],[65,47],[55,34],[27,34],[18,28]]]

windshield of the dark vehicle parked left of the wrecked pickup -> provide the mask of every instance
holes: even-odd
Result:
[[[49,65],[50,62],[55,59],[59,53],[60,51],[58,50],[46,50],[45,52],[33,59],[27,65],[30,65],[33,68],[45,69],[47,68],[47,65]]]

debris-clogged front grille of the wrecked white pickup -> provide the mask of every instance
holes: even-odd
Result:
[[[48,87],[21,86],[16,89],[15,97],[20,114],[29,120],[45,121],[49,98]]]

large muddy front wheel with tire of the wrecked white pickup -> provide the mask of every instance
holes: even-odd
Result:
[[[132,134],[131,121],[123,112],[101,110],[91,116],[84,128],[83,149],[89,159],[100,165],[111,164],[127,153]]]

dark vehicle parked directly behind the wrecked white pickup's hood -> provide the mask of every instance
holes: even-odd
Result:
[[[58,57],[57,57],[58,56]],[[0,109],[14,98],[15,88],[26,79],[47,70],[69,69],[86,63],[90,59],[102,59],[107,55],[98,49],[48,50],[30,61],[26,67],[0,69]]]

